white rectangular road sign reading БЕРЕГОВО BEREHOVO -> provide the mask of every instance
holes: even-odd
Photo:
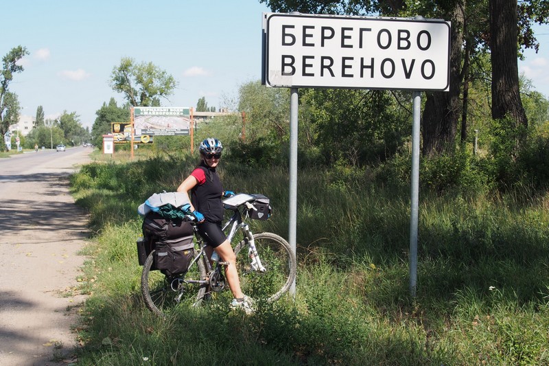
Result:
[[[270,87],[449,88],[447,21],[264,13],[263,27]]]

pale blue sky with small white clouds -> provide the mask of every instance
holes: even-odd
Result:
[[[0,56],[23,45],[10,89],[23,115],[43,106],[47,118],[63,111],[80,115],[83,126],[95,111],[122,95],[108,86],[122,57],[152,62],[179,85],[165,106],[231,106],[238,87],[261,78],[261,13],[258,0],[17,0],[3,5]],[[536,28],[539,54],[527,52],[519,71],[549,97],[549,25]]]

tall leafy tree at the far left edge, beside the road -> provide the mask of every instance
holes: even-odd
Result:
[[[5,150],[3,136],[10,130],[10,125],[19,122],[19,100],[17,95],[10,92],[10,82],[13,80],[13,74],[23,71],[23,66],[17,65],[25,55],[29,54],[27,49],[22,46],[12,48],[8,54],[2,58],[2,71],[0,74],[0,151]]]

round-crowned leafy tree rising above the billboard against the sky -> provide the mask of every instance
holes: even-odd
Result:
[[[110,74],[110,87],[132,106],[160,106],[159,98],[172,95],[177,87],[173,76],[152,64],[137,64],[133,58],[122,58]]]

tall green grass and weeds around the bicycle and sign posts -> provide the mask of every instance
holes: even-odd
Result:
[[[192,157],[92,164],[73,176],[96,233],[82,290],[80,365],[546,365],[546,200],[421,192],[417,297],[408,290],[408,191],[380,172],[303,168],[295,299],[250,317],[222,301],[156,319],[141,301],[137,205],[174,190]],[[223,162],[226,190],[262,193],[288,232],[288,172]]]

